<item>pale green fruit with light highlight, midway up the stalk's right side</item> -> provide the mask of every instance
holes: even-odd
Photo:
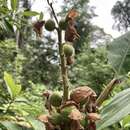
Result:
[[[63,51],[66,57],[73,56],[75,53],[74,47],[70,43],[65,43],[63,45]]]

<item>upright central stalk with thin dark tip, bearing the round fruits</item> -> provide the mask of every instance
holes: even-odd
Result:
[[[55,18],[57,25],[59,24],[56,13],[52,6],[52,3],[47,0],[48,5],[52,10],[52,14]],[[66,65],[66,57],[63,52],[63,44],[62,44],[62,31],[59,28],[56,28],[58,33],[58,47],[59,47],[59,55],[60,55],[60,67],[61,67],[61,74],[62,74],[62,85],[63,85],[63,102],[68,100],[68,89],[69,89],[69,80],[68,80],[68,72],[67,72],[67,65]]]

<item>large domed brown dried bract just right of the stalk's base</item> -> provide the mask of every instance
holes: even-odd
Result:
[[[88,97],[96,97],[96,93],[88,86],[82,86],[74,89],[70,94],[70,99],[76,103],[84,101]]]

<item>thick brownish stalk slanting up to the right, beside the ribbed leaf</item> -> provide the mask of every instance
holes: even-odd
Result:
[[[106,86],[106,88],[101,92],[101,94],[99,95],[98,99],[96,100],[96,105],[99,107],[102,105],[103,101],[108,97],[108,95],[111,93],[111,91],[114,88],[114,85],[116,83],[117,79],[113,78],[108,85]]]

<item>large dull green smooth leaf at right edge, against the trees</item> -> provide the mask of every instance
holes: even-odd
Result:
[[[108,45],[108,61],[117,74],[130,71],[130,32]]]

